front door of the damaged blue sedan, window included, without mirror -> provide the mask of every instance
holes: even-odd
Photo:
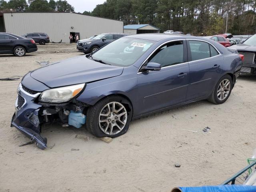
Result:
[[[161,64],[161,70],[138,72],[140,114],[146,114],[185,102],[188,89],[188,54],[186,40],[164,44],[148,58]]]

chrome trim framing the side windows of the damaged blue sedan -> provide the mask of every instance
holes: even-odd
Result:
[[[199,60],[194,60],[194,61],[179,63],[179,64],[175,64],[175,65],[170,65],[170,66],[162,67],[161,69],[164,69],[164,68],[167,68],[167,67],[172,67],[172,66],[177,66],[177,65],[181,65],[181,64],[186,64],[186,63],[191,63],[191,62],[206,60],[206,59],[210,59],[210,58],[214,58],[214,57],[217,57],[217,56],[222,55],[222,53],[220,53],[220,51],[219,51],[213,44],[211,44],[210,42],[205,41],[205,40],[201,40],[201,39],[175,39],[175,40],[170,40],[170,41],[166,41],[166,42],[160,44],[160,45],[146,58],[146,60],[144,60],[144,62],[143,62],[143,63],[140,65],[140,67],[138,68],[137,74],[142,74],[142,73],[144,73],[144,72],[139,72],[140,69],[141,69],[142,66],[145,64],[145,62],[150,58],[150,56],[152,56],[152,54],[154,54],[154,52],[156,52],[156,50],[158,50],[158,48],[160,48],[162,45],[164,45],[164,44],[166,44],[166,43],[169,43],[169,42],[173,42],[173,41],[184,41],[184,40],[192,40],[192,41],[202,41],[202,42],[206,42],[206,43],[210,44],[211,46],[213,46],[213,48],[218,52],[218,55],[213,56],[213,57],[204,58],[204,59],[199,59]],[[190,50],[190,51],[191,51],[191,50]]]

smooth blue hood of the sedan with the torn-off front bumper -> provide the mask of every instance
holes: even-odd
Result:
[[[123,69],[79,56],[34,70],[30,76],[53,88],[119,76]]]

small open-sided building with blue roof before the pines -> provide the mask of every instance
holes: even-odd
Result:
[[[160,29],[150,24],[135,24],[124,26],[124,33],[141,34],[141,33],[159,33]]]

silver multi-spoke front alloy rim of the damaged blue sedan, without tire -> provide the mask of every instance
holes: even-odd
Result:
[[[126,125],[126,108],[119,102],[106,104],[99,115],[99,126],[107,135],[115,135],[122,131]]]

